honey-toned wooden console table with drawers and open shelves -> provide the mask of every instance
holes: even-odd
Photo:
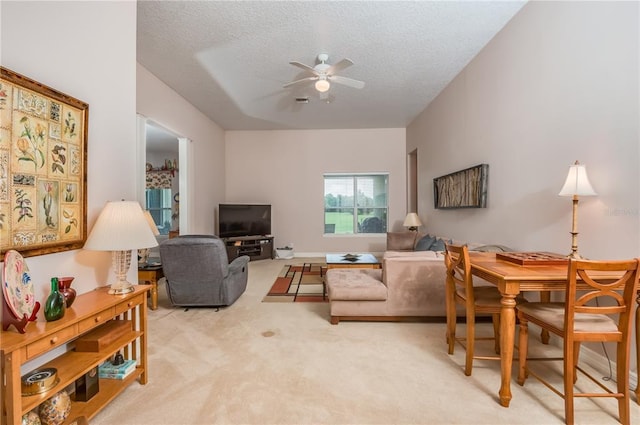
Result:
[[[109,295],[108,287],[79,295],[64,317],[46,322],[40,311],[37,321],[30,322],[26,333],[13,327],[0,335],[2,382],[2,424],[20,425],[22,415],[73,384],[76,379],[124,349],[125,358],[137,361],[136,370],[123,380],[100,379],[99,391],[89,401],[74,401],[69,419],[84,416],[91,419],[136,379],[147,383],[147,292],[149,286],[136,286],[126,295]],[[129,320],[132,330],[119,336],[97,352],[79,352],[73,348],[80,336],[95,330],[109,320]],[[46,362],[42,368],[55,368],[59,382],[51,389],[35,395],[22,395],[20,367],[58,347],[67,351]]]

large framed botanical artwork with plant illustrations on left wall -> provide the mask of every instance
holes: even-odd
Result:
[[[0,71],[0,254],[82,248],[89,105]]]

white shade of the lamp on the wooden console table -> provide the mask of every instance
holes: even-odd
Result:
[[[84,249],[127,251],[158,245],[140,204],[133,201],[107,202],[98,216]]]

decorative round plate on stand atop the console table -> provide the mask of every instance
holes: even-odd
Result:
[[[4,299],[16,319],[22,319],[25,314],[27,317],[31,317],[36,298],[29,275],[29,267],[18,251],[9,250],[4,255],[2,292],[4,292]]]

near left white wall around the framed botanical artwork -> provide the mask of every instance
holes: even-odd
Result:
[[[104,203],[135,199],[136,3],[2,1],[2,66],[89,104],[88,228]],[[114,24],[117,23],[117,24]],[[28,257],[36,299],[53,276],[86,292],[115,280],[107,252]],[[135,267],[129,280],[136,281]]]

